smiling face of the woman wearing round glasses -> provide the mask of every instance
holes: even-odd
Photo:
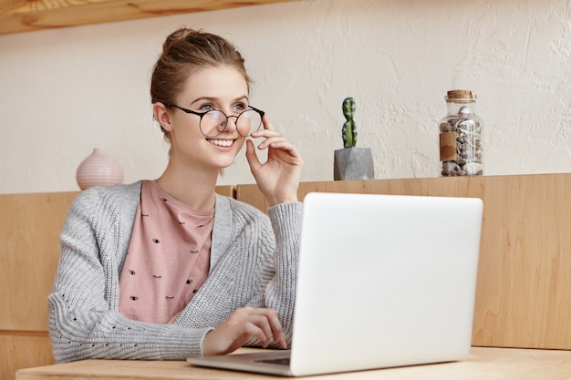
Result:
[[[248,85],[234,67],[206,67],[187,78],[176,106],[195,112],[218,109],[229,117],[238,116],[248,108]],[[236,130],[235,118],[229,118],[223,132],[213,138],[202,134],[198,115],[171,108],[171,122],[173,158],[183,164],[226,168],[244,146],[245,138]]]

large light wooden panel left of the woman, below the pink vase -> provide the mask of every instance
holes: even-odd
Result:
[[[47,331],[59,233],[78,192],[0,196],[0,330]]]

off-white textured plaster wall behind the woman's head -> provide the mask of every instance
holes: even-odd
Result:
[[[471,88],[488,175],[571,171],[567,0],[300,0],[0,36],[0,193],[78,190],[75,170],[108,149],[125,181],[161,174],[151,66],[179,26],[232,40],[252,104],[296,141],[303,180],[332,180],[343,98],[377,178],[439,175],[448,89]],[[240,154],[221,184],[251,183]]]

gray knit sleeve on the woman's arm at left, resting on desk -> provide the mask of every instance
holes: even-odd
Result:
[[[56,280],[47,300],[57,362],[202,355],[208,328],[140,323],[119,314],[118,257],[121,241],[130,238],[121,211],[121,201],[96,189],[81,193],[68,212]]]

